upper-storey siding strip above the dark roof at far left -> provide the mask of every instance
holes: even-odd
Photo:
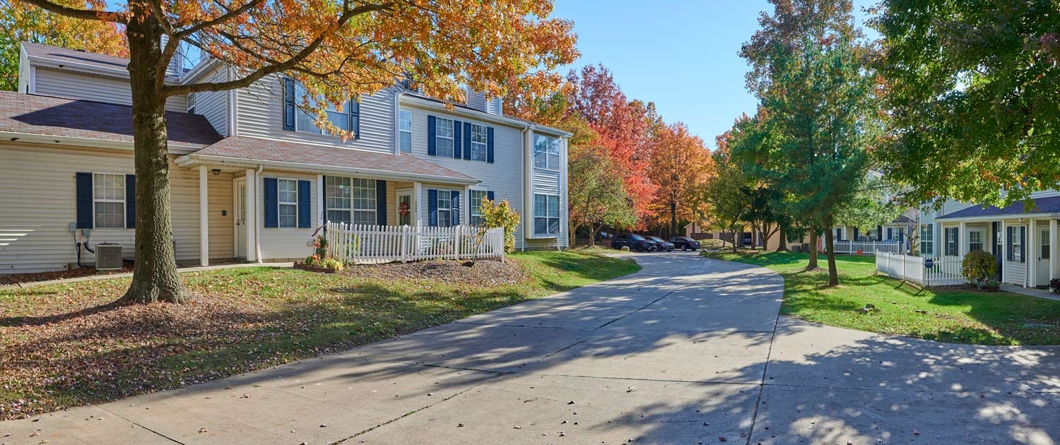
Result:
[[[128,79],[80,74],[71,71],[35,67],[34,93],[56,97],[132,105]],[[169,111],[188,111],[188,99],[175,95],[166,100]]]

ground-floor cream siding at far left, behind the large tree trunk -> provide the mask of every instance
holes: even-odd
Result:
[[[172,161],[172,158],[171,158]],[[70,224],[76,221],[77,172],[132,174],[132,153],[0,144],[0,273],[59,270],[77,261]],[[198,264],[198,171],[170,164],[177,262]],[[232,257],[232,176],[209,178],[210,257]],[[220,216],[226,210],[227,217]],[[118,243],[132,257],[134,229],[92,229],[90,245]],[[83,251],[82,262],[94,256]]]

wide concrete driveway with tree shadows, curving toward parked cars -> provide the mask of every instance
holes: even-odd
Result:
[[[0,423],[0,443],[1060,442],[1060,349],[800,322],[767,269],[635,257],[633,275],[342,354]]]

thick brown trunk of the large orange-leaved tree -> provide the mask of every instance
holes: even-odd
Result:
[[[137,178],[136,266],[132,284],[119,303],[181,303],[191,297],[177,275],[173,251],[165,97],[160,93],[163,79],[157,74],[162,59],[161,31],[151,18],[145,22],[132,20],[126,29]]]

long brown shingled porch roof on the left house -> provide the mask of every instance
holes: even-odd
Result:
[[[384,154],[270,139],[230,136],[177,160],[181,166],[258,165],[314,172],[349,174],[379,179],[476,184],[478,179],[407,154]]]

